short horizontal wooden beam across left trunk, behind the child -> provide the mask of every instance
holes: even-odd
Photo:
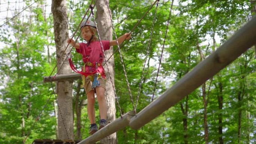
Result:
[[[55,76],[55,78],[53,76],[50,77],[43,77],[43,82],[57,82],[57,81],[65,81],[65,80],[77,80],[77,79],[81,79],[81,74],[78,73],[70,73],[70,74],[60,74]]]

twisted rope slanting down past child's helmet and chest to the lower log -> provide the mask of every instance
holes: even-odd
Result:
[[[95,23],[95,26],[96,26],[96,30],[97,30],[97,33],[98,33],[98,37],[99,37],[99,40],[100,40],[101,49],[102,49],[102,51],[103,51],[104,57],[106,57],[105,52],[104,52],[104,49],[103,49],[103,45],[102,45],[102,42],[101,42],[100,33],[99,33],[99,31],[98,31],[98,27],[97,27],[96,22],[95,22],[94,12],[93,12],[92,9],[91,9],[91,11],[92,11],[92,18],[93,18],[93,20],[94,20],[94,23]],[[106,62],[106,59],[105,59],[105,62]],[[106,62],[106,64],[107,64],[107,62]],[[109,66],[108,66],[108,65],[107,65],[107,71],[109,72]],[[117,98],[117,96],[116,96],[116,90],[115,90],[115,87],[114,87],[114,84],[113,84],[113,81],[112,81],[112,77],[111,77],[111,75],[110,75],[110,72],[109,72],[109,77],[110,77],[110,81],[111,81],[111,84],[112,84],[112,87],[113,87],[113,90],[114,90],[114,93],[115,93],[116,102],[118,103],[118,108],[119,108],[119,112],[120,112],[120,114],[121,114],[121,118],[123,118],[123,117],[122,117],[121,108],[120,108],[120,104],[119,104],[118,98]]]

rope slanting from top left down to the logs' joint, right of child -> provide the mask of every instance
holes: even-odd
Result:
[[[132,99],[131,89],[130,89],[130,86],[129,86],[127,74],[126,74],[126,71],[125,71],[124,61],[123,61],[123,58],[122,58],[122,55],[121,55],[120,46],[119,46],[119,43],[118,43],[118,38],[117,38],[117,36],[116,36],[115,27],[114,27],[114,24],[113,24],[113,19],[112,19],[111,13],[110,13],[109,3],[107,3],[107,0],[106,0],[106,4],[107,4],[107,9],[109,10],[109,16],[110,16],[112,28],[113,28],[113,31],[114,31],[114,34],[115,34],[116,43],[117,43],[117,46],[118,46],[118,52],[119,52],[120,59],[121,59],[121,62],[122,62],[122,66],[123,66],[123,70],[124,70],[124,75],[125,75],[125,80],[126,80],[126,83],[127,83],[127,88],[128,88],[128,91],[129,91],[129,95],[130,95],[130,98],[131,98],[131,102],[132,102],[132,107],[133,107],[133,110],[134,110],[134,112],[135,112],[135,107],[134,107],[134,102],[133,102],[133,99]],[[131,33],[129,33],[129,34],[131,34]],[[135,113],[136,113],[136,112],[135,112]]]

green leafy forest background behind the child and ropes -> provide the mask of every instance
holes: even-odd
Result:
[[[12,1],[15,3],[15,1]],[[155,96],[161,94],[195,65],[214,52],[255,13],[255,0],[176,0],[168,27]],[[4,24],[33,1],[16,1],[22,8],[9,8],[0,1],[0,19]],[[69,36],[76,30],[89,1],[68,0]],[[110,9],[118,36],[129,32],[146,12],[152,0],[110,0]],[[5,8],[4,8],[4,7]],[[8,6],[6,8],[6,6]],[[38,0],[33,6],[0,27],[0,143],[22,143],[27,132],[52,94],[51,84],[43,83],[56,64],[53,16],[46,10],[51,3]],[[146,60],[137,111],[151,102],[171,1],[159,1],[149,55]],[[137,97],[146,47],[156,7],[132,33],[122,47],[125,69],[132,96]],[[3,14],[4,13],[4,14]],[[113,37],[114,39],[114,37]],[[82,39],[79,39],[82,42]],[[205,82],[152,122],[139,130],[129,127],[117,132],[120,144],[256,144],[256,48],[247,50],[228,67]],[[75,50],[74,63],[82,58]],[[132,110],[119,54],[115,53],[115,88],[122,113]],[[55,71],[56,72],[56,71]],[[73,84],[73,105],[81,106],[81,122],[74,116],[74,139],[89,136],[86,121],[86,95]],[[98,117],[97,105],[96,115]],[[75,108],[73,108],[75,109]],[[57,139],[57,105],[52,97],[34,125],[26,144],[34,139]],[[116,117],[120,117],[116,106]],[[85,123],[86,121],[86,123]],[[82,132],[85,123],[85,131]],[[77,132],[77,126],[79,132]]]

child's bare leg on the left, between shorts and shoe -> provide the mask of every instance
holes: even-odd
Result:
[[[90,120],[90,123],[96,123],[95,122],[95,110],[94,110],[94,104],[95,104],[95,98],[94,98],[94,91],[91,90],[87,93],[87,113]]]

